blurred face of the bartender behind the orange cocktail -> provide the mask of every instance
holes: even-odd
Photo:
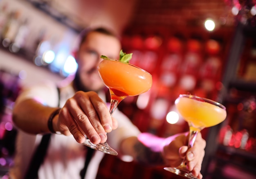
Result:
[[[118,59],[120,50],[121,43],[117,38],[99,32],[88,34],[76,57],[78,73],[85,89],[97,92],[105,86],[97,69],[102,60],[100,56]]]

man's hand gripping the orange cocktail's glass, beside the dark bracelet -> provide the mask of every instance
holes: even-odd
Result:
[[[117,128],[108,107],[96,92],[76,92],[61,109],[55,129],[64,135],[72,134],[83,143],[85,135],[94,144],[107,140],[106,132]]]

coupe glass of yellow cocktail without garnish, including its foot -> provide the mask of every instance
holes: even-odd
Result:
[[[175,100],[177,110],[189,124],[190,136],[188,147],[193,147],[195,137],[204,128],[217,125],[227,116],[226,107],[216,101],[190,94],[180,94]],[[165,170],[189,179],[194,177],[186,168],[186,159],[178,167],[165,167]]]

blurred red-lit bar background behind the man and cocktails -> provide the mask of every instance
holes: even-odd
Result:
[[[0,175],[12,165],[13,103],[22,85],[74,74],[86,27],[121,36],[153,87],[119,105],[142,132],[188,131],[174,106],[191,93],[223,103],[227,119],[202,130],[204,179],[256,178],[256,0],[0,0]],[[179,179],[163,167],[106,155],[99,179]],[[4,178],[4,177],[2,177]]]

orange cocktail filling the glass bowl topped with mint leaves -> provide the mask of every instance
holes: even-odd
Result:
[[[98,70],[104,84],[117,96],[136,96],[152,85],[151,74],[130,63],[104,59]]]

